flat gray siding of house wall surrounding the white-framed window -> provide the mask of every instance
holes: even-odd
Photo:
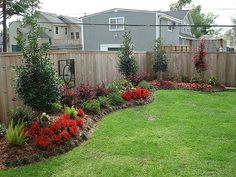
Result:
[[[86,25],[86,24],[108,24],[109,18],[124,17],[125,24],[131,25],[155,25],[155,12],[133,12],[108,11],[91,17],[85,17],[84,23],[84,50],[100,50],[101,44],[121,44],[124,31],[109,31],[108,25]],[[155,26],[127,26],[131,32],[136,51],[148,51],[152,49],[156,38]]]

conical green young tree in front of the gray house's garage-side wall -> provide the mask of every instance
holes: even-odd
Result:
[[[133,56],[134,45],[130,32],[125,31],[119,52],[119,72],[126,78],[135,75],[138,70],[137,61]]]

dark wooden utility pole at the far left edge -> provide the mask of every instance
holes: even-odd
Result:
[[[7,0],[2,3],[3,13],[3,52],[7,52]]]

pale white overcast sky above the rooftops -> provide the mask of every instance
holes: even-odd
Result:
[[[112,8],[127,8],[141,10],[169,10],[169,5],[177,0],[41,0],[41,10],[81,17]],[[236,0],[193,0],[192,4],[201,5],[204,13],[212,12],[218,15],[216,23],[231,25],[232,17],[236,18]]]

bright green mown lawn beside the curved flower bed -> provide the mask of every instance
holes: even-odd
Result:
[[[0,176],[235,176],[236,91],[162,90],[155,97],[110,114],[69,153]]]

